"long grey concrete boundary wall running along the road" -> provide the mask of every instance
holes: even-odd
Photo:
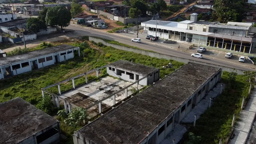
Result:
[[[222,68],[222,71],[233,72],[233,68],[230,68],[230,67],[210,64],[210,63],[201,62],[201,61],[197,61],[197,60],[189,60],[189,59],[185,59],[185,58],[181,58],[181,57],[176,57],[176,56],[171,56],[171,55],[166,55],[166,54],[161,54],[161,53],[156,53],[156,52],[149,52],[149,51],[146,51],[146,50],[135,49],[135,48],[122,46],[122,45],[117,45],[117,44],[110,44],[110,43],[105,42],[102,39],[91,37],[91,36],[89,36],[89,40],[94,41],[96,43],[100,42],[104,45],[111,46],[111,47],[114,47],[114,48],[119,49],[119,50],[140,53],[142,55],[147,55],[147,56],[150,56],[150,57],[156,57],[158,59],[177,60],[177,61],[184,62],[184,63],[193,62],[193,63],[197,63],[197,64]],[[238,75],[243,75],[244,74],[244,70],[241,70],[241,69],[235,69],[234,72],[236,72]]]

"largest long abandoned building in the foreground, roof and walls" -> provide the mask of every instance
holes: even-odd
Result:
[[[220,80],[221,71],[188,63],[74,132],[74,144],[159,144]]]

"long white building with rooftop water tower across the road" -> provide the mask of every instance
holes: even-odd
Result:
[[[229,33],[228,35],[216,33],[214,31],[208,32],[206,31],[206,28],[204,31],[190,29],[188,26],[196,23],[196,20],[197,14],[193,13],[190,15],[190,20],[184,20],[180,22],[149,20],[147,22],[142,22],[141,26],[144,27],[144,34],[159,36],[163,39],[183,41],[192,44],[212,46],[245,53],[251,53],[252,48],[255,47],[251,37],[236,36],[236,31],[238,31],[238,29],[232,31],[232,33]],[[216,24],[209,25],[208,27],[214,26],[220,28],[222,25]],[[236,26],[230,26],[229,28],[235,27]]]

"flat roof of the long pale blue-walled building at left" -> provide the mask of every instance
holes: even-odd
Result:
[[[49,48],[45,48],[45,49],[41,49],[41,50],[31,51],[31,52],[24,53],[24,54],[7,56],[7,57],[0,58],[0,66],[6,65],[9,63],[13,63],[13,62],[17,62],[17,61],[21,61],[21,60],[27,60],[30,58],[47,55],[47,54],[54,53],[54,52],[61,52],[61,51],[65,51],[65,50],[69,50],[69,49],[73,49],[73,48],[76,48],[76,47],[67,45],[67,44],[63,44],[63,45],[49,47]]]

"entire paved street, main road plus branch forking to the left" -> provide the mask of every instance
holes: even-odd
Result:
[[[158,52],[158,53],[162,53],[162,54],[167,54],[167,55],[172,55],[172,56],[177,56],[177,57],[181,57],[181,58],[186,58],[186,59],[190,59],[190,60],[197,60],[197,61],[202,61],[202,62],[206,62],[206,63],[211,63],[211,64],[215,64],[215,65],[221,65],[221,66],[226,66],[226,67],[231,67],[231,68],[236,68],[236,69],[243,69],[243,70],[254,70],[250,67],[246,67],[243,64],[234,64],[234,63],[230,63],[228,60],[225,61],[221,61],[221,60],[216,60],[216,59],[211,59],[211,58],[204,58],[204,59],[196,59],[191,57],[191,54],[188,52],[182,52],[182,51],[177,51],[175,49],[170,49],[170,48],[166,48],[163,46],[159,46],[159,45],[155,45],[154,43],[134,43],[131,41],[130,38],[127,38],[125,36],[120,36],[120,34],[109,34],[105,31],[102,30],[98,30],[98,29],[93,29],[93,28],[82,28],[82,27],[78,27],[76,25],[71,24],[70,26],[67,27],[67,29],[71,29],[71,30],[75,30],[75,32],[72,33],[67,33],[63,36],[59,36],[59,37],[54,37],[54,38],[50,38],[50,39],[45,39],[43,40],[44,42],[53,42],[53,41],[57,41],[57,40],[63,40],[65,38],[69,38],[69,37],[79,37],[79,36],[97,36],[97,37],[101,37],[101,38],[105,38],[105,39],[109,39],[109,40],[114,40],[114,41],[118,41],[120,43],[124,43],[124,44],[129,44],[131,46],[136,46],[139,47],[141,49],[145,49],[145,50],[150,50],[150,51],[154,51],[154,52]],[[36,45],[39,45],[41,43],[40,41],[37,42],[33,42],[30,44],[27,44],[27,47],[33,47]],[[24,47],[24,45],[20,45],[19,47]],[[4,51],[9,52],[11,50],[13,50],[15,47],[12,48],[8,48],[8,49],[4,49]]]

